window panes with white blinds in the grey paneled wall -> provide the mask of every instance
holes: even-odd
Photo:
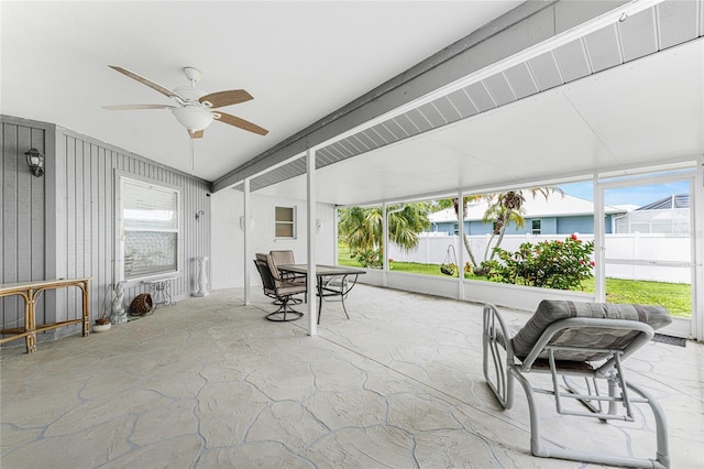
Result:
[[[123,280],[178,271],[178,190],[121,178]]]

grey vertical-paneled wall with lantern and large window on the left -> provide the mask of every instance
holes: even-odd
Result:
[[[0,122],[0,283],[88,276],[92,318],[109,312],[117,274],[116,174],[122,174],[180,192],[180,265],[172,294],[178,299],[197,290],[195,258],[210,255],[210,183],[61,127],[7,116]],[[32,176],[26,165],[24,152],[32,146],[45,154],[43,177]],[[205,212],[200,221],[199,210]],[[144,284],[128,284],[125,307],[147,291]],[[1,299],[2,328],[21,325],[21,301]],[[46,292],[43,301],[37,324],[80,314],[77,290]]]

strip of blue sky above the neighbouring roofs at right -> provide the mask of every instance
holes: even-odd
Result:
[[[571,196],[580,197],[586,200],[594,200],[592,192],[592,182],[561,184],[559,186],[562,192]],[[660,200],[673,194],[689,194],[689,182],[668,182],[661,184],[641,185],[634,187],[625,187],[619,189],[607,189],[604,193],[604,201],[606,205],[636,205],[642,207],[652,201]]]

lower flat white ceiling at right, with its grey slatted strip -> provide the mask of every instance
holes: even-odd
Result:
[[[317,200],[365,205],[693,160],[704,153],[703,10],[652,7],[361,126],[317,150]],[[295,160],[251,188],[306,198],[305,172]]]

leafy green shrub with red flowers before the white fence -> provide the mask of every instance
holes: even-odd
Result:
[[[524,242],[516,252],[494,249],[498,260],[486,263],[495,282],[557,290],[584,290],[582,281],[593,276],[594,241],[582,242],[576,234],[564,241]],[[482,263],[484,265],[484,263]]]

